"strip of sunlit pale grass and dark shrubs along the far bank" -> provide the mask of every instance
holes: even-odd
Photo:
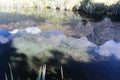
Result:
[[[40,8],[40,9],[56,9],[56,10],[73,10],[85,12],[90,15],[120,15],[120,1],[112,0],[112,3],[100,0],[6,0],[0,3],[0,8]]]

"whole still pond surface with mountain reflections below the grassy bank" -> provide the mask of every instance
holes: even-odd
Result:
[[[26,33],[28,27],[37,27],[41,33]],[[65,80],[120,80],[117,17],[33,9],[1,11],[0,28],[0,80],[5,80],[5,73],[10,79],[8,63],[15,80],[36,80],[41,64],[47,65],[46,80],[61,80],[61,65]],[[11,34],[14,29],[19,32]],[[53,57],[38,57],[39,53]]]

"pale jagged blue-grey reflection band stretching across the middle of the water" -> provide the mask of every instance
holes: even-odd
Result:
[[[88,54],[88,52],[91,52],[92,54],[99,54],[101,56],[111,56],[114,55],[117,59],[119,59],[119,46],[120,43],[114,41],[113,39],[107,40],[105,43],[101,44],[101,45],[96,45],[95,43],[89,41],[89,38],[84,36],[81,38],[74,38],[74,37],[67,37],[63,32],[59,32],[57,30],[48,30],[48,31],[43,31],[43,32],[38,32],[33,34],[34,32],[40,31],[39,28],[37,27],[30,27],[29,29],[26,28],[24,30],[18,30],[16,33],[13,33],[10,35],[9,32],[5,31],[5,30],[0,30],[0,33],[2,33],[4,31],[5,34],[9,34],[9,37],[4,36],[4,34],[0,34],[1,35],[1,43],[3,43],[3,41],[6,41],[5,39],[11,39],[13,41],[13,45],[18,48],[18,52],[21,53],[33,53],[34,49],[32,49],[33,43],[36,46],[36,51],[38,52],[34,52],[36,54],[38,54],[39,52],[41,52],[42,50],[45,49],[49,49],[49,48],[54,48],[55,46],[63,46],[66,51],[68,49],[67,52],[70,51],[70,55],[73,55],[73,57],[75,57],[75,55],[77,55],[76,57],[78,57],[78,54],[83,53],[83,54]],[[33,32],[34,31],[34,32]],[[33,35],[33,36],[31,36]],[[2,40],[3,39],[3,40]],[[21,42],[23,41],[23,42]],[[19,43],[20,42],[20,43]],[[25,44],[27,45],[27,43],[29,43],[29,46],[24,46]],[[42,43],[41,45],[38,45],[36,43]],[[30,46],[31,44],[31,46]],[[45,46],[45,44],[47,44],[47,46]],[[24,50],[22,49],[22,47],[24,46]],[[41,47],[41,49],[37,50],[38,47]],[[26,49],[25,49],[26,48]],[[61,48],[61,47],[60,47]],[[28,51],[28,49],[30,50],[30,52]],[[61,48],[62,49],[62,48]],[[69,50],[71,49],[71,50]],[[89,49],[89,50],[88,50]],[[64,50],[65,51],[65,50]],[[75,52],[74,52],[75,51]],[[74,54],[71,54],[72,52],[74,52]],[[75,54],[77,53],[77,54]],[[89,54],[89,55],[92,55]],[[94,54],[94,55],[95,55]],[[92,56],[94,56],[92,55]],[[81,56],[81,55],[80,55]],[[90,57],[90,56],[88,56]],[[84,57],[87,59],[87,55]],[[82,58],[81,58],[82,60]]]

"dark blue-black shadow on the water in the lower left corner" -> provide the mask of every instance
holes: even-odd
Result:
[[[35,80],[36,73],[29,70],[28,58],[22,53],[17,53],[16,48],[12,47],[12,41],[6,44],[0,44],[0,80],[5,80],[5,73],[10,79],[11,64],[14,80]]]

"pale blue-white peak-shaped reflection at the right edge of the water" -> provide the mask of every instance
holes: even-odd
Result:
[[[98,52],[103,56],[114,56],[115,58],[120,59],[120,43],[109,40],[100,46]]]

